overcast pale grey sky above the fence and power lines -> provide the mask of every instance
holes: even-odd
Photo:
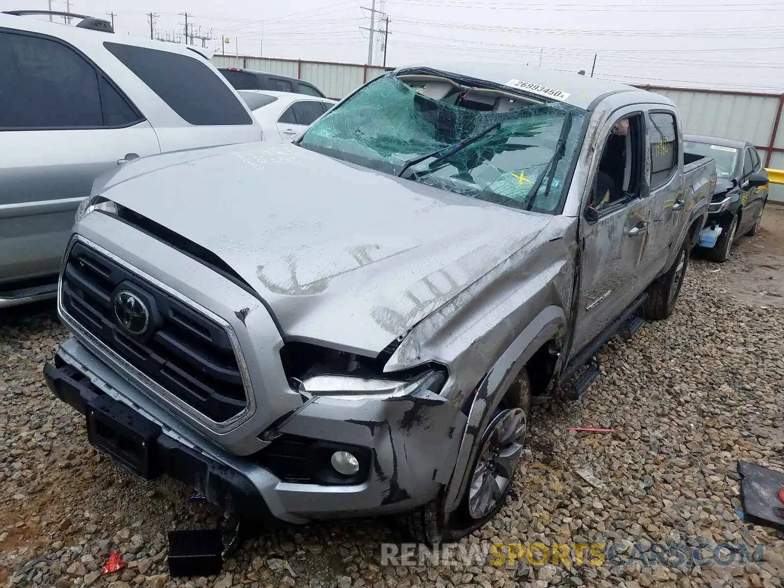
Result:
[[[66,0],[53,0],[64,10]],[[220,52],[363,64],[372,0],[74,0],[71,11],[114,12],[118,34],[182,34],[189,20]],[[389,17],[387,65],[448,59],[539,64],[623,82],[720,89],[784,89],[784,4],[728,0],[376,0]],[[0,9],[45,9],[47,0],[0,0]],[[383,16],[376,27],[383,29]],[[200,41],[197,41],[201,44]],[[376,64],[382,52],[376,44]]]

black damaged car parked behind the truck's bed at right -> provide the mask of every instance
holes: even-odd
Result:
[[[684,141],[688,153],[716,161],[716,187],[697,245],[721,263],[737,238],[757,234],[768,201],[768,172],[750,143],[701,135],[684,135]]]

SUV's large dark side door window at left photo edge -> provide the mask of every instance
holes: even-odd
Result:
[[[103,126],[95,68],[46,38],[0,32],[0,129]]]

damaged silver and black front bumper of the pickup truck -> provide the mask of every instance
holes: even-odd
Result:
[[[251,456],[235,456],[193,430],[103,364],[76,339],[45,378],[85,414],[89,441],[141,477],[169,475],[241,517],[305,523],[392,514],[434,499],[452,477],[466,416],[423,391],[389,398],[313,397]],[[329,475],[335,451],[354,452],[359,477]],[[332,471],[332,474],[335,474]]]

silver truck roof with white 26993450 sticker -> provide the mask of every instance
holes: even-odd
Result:
[[[636,92],[646,93],[655,103],[673,104],[668,98],[635,88],[632,85],[590,78],[571,71],[556,71],[546,67],[528,65],[485,64],[485,63],[445,63],[426,62],[399,67],[396,71],[416,67],[427,67],[434,70],[462,75],[470,78],[487,80],[502,85],[510,85],[524,92],[539,96],[550,96],[556,100],[587,109],[593,100],[608,93]]]

